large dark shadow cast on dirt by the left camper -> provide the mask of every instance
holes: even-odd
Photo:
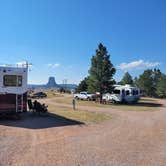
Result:
[[[63,116],[52,113],[47,115],[34,115],[32,113],[22,113],[20,120],[0,119],[0,125],[20,127],[27,129],[45,129],[51,127],[83,125],[83,122],[71,120]]]

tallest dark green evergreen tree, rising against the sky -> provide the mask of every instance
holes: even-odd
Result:
[[[96,55],[91,59],[89,70],[89,90],[93,92],[110,92],[114,84],[113,75],[116,70],[110,61],[110,55],[106,47],[101,43],[98,45]]]

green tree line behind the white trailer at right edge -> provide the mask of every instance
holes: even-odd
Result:
[[[147,69],[134,79],[126,72],[118,84],[130,84],[141,88],[142,94],[148,97],[166,98],[166,74],[159,69]]]

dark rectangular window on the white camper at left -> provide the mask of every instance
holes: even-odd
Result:
[[[22,86],[22,76],[5,75],[3,77],[4,86]]]

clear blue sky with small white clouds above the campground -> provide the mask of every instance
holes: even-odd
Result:
[[[32,63],[28,82],[79,83],[99,43],[119,81],[145,69],[166,73],[165,0],[1,0],[0,64]]]

